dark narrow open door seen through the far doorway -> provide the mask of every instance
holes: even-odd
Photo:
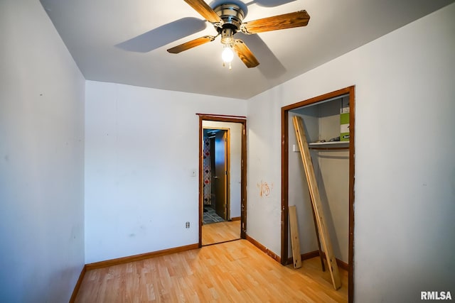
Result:
[[[215,134],[215,212],[228,220],[228,131]]]

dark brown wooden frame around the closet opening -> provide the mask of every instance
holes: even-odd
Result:
[[[309,104],[349,94],[349,239],[348,239],[348,302],[354,300],[354,169],[355,169],[355,86],[282,107],[282,265],[288,263],[289,211],[289,111]]]

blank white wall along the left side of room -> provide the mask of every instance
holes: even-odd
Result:
[[[0,301],[68,302],[84,265],[85,79],[39,1],[0,1]]]

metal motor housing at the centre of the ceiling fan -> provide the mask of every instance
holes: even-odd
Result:
[[[221,35],[221,43],[234,43],[232,36],[239,30],[245,13],[240,9],[240,6],[235,4],[221,4],[215,7],[214,11],[224,22],[222,27],[215,26]]]

